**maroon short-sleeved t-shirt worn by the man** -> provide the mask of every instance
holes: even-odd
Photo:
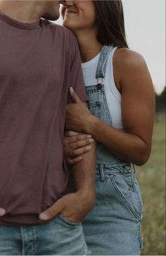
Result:
[[[82,100],[77,40],[42,20],[20,23],[0,13],[0,225],[39,223],[65,193],[63,131],[68,89]]]

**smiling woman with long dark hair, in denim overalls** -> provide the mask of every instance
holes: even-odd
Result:
[[[98,142],[96,205],[83,223],[87,245],[92,255],[139,255],[142,202],[134,164],[151,153],[151,76],[143,57],[128,48],[121,1],[65,1],[62,14],[79,43],[89,96],[87,110],[70,89],[75,104],[68,105],[66,128]],[[68,135],[72,164],[89,146],[77,133]]]

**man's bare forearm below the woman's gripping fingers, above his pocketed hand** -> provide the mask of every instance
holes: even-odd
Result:
[[[91,144],[91,151],[84,153],[82,161],[71,166],[77,192],[95,196],[96,143]]]

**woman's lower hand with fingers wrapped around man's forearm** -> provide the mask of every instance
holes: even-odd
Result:
[[[64,154],[65,160],[69,165],[82,161],[83,154],[91,150],[94,142],[89,134],[78,134],[77,132],[65,132]]]

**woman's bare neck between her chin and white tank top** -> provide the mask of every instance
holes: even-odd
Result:
[[[84,31],[84,33],[82,33],[82,31],[78,30],[75,35],[79,43],[82,62],[89,62],[101,52],[102,45],[96,39],[96,31],[91,31],[91,33]]]

